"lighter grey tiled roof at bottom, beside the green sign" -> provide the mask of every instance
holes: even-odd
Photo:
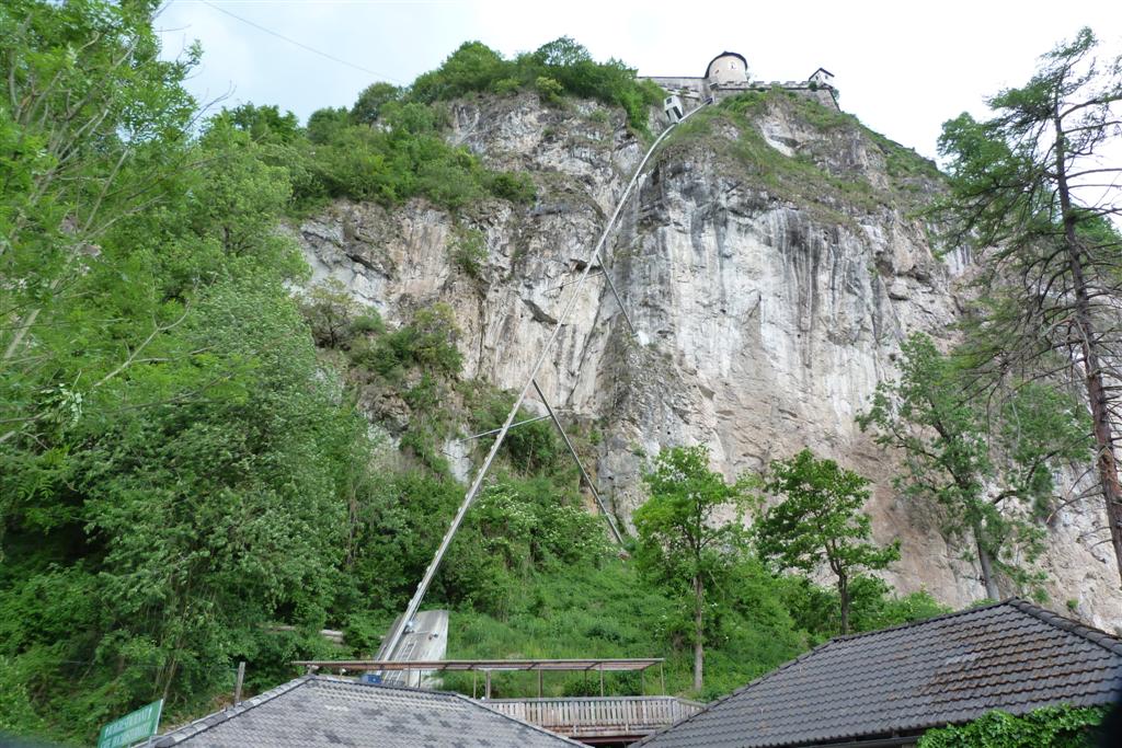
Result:
[[[467,696],[307,675],[157,738],[157,748],[579,746]]]

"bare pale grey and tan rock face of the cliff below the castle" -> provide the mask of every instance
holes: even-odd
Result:
[[[772,96],[744,118],[695,120],[673,133],[539,381],[567,415],[604,434],[596,478],[625,520],[641,500],[642,455],[661,445],[708,444],[729,475],[810,446],[876,481],[874,532],[903,543],[889,581],[966,606],[984,594],[972,562],[948,548],[936,517],[895,495],[895,456],[854,416],[894,373],[905,335],[947,334],[968,258],[937,259],[925,225],[909,218],[935,188],[929,177],[901,169],[899,153],[855,123],[808,112]],[[453,119],[451,137],[487,164],[534,176],[533,207],[496,201],[453,219],[423,202],[394,211],[340,203],[300,232],[315,277],[342,280],[390,324],[449,304],[466,375],[513,389],[646,147],[620,116],[591,103],[482,100],[458,104]],[[450,259],[457,221],[486,237],[480,278]],[[462,458],[457,468],[471,465]],[[1098,511],[1092,499],[1054,518],[1045,566],[1052,606],[1116,629],[1122,593],[1109,546],[1095,545]]]

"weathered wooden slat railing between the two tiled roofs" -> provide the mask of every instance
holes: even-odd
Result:
[[[650,735],[705,708],[674,696],[491,699],[480,703],[570,738]]]

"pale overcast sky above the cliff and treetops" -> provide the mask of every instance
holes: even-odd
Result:
[[[278,104],[302,121],[321,107],[349,107],[374,81],[408,83],[469,39],[511,56],[571,36],[641,75],[701,75],[730,49],[748,59],[753,79],[806,79],[826,67],[844,110],[928,156],[945,120],[984,114],[984,96],[1024,83],[1036,58],[1079,27],[1122,48],[1116,0],[171,0],[156,25],[165,54],[202,43],[190,82],[201,101],[229,93],[224,105]]]

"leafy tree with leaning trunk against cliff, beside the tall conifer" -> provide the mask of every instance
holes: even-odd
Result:
[[[1037,583],[1022,565],[1042,550],[1036,518],[1052,509],[1054,471],[1088,456],[1086,419],[1069,398],[1036,382],[987,412],[969,396],[962,360],[941,354],[930,338],[917,333],[901,352],[900,378],[877,385],[857,419],[862,430],[902,451],[896,487],[937,502],[951,537],[973,545],[988,599],[1001,598],[999,574],[1021,588]]]

